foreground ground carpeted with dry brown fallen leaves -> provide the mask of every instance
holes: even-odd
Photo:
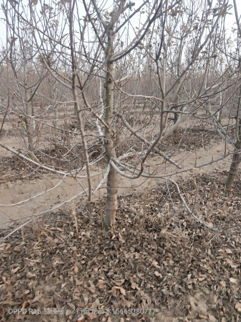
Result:
[[[225,191],[226,175],[178,182],[220,232],[171,184],[120,197],[109,232],[102,199],[23,227],[0,243],[1,321],[241,321],[241,184]]]

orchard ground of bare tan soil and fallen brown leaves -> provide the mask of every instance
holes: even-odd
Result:
[[[4,126],[1,141],[23,150],[23,139]],[[162,149],[185,168],[232,151],[190,120],[182,134]],[[48,210],[86,187],[0,153],[0,239],[17,225],[6,221]],[[150,173],[176,170],[159,160],[149,159]],[[187,212],[175,185],[120,177],[117,223],[109,232],[101,229],[103,183],[93,201],[77,198],[0,242],[1,321],[241,321],[241,183],[239,174],[225,190],[230,161],[172,176],[193,214],[216,231]]]

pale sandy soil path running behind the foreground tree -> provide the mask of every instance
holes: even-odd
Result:
[[[60,119],[58,126],[63,123],[63,120]],[[188,128],[193,125],[195,124],[193,123],[193,120],[190,119],[187,119],[183,123],[184,128]],[[13,122],[5,122],[3,126],[4,135],[2,135],[1,141],[4,142],[7,146],[14,148],[15,150],[20,149],[22,151],[26,148],[24,143],[24,139],[26,138],[14,136],[15,129],[16,127]],[[46,140],[40,138],[38,147],[39,149],[49,147],[49,143],[46,143]],[[232,147],[227,148],[232,151]],[[221,155],[223,155],[224,149],[225,146],[221,140],[212,141],[212,139],[210,139],[209,146],[193,146],[191,149],[189,148],[189,150],[187,150],[186,148],[180,148],[178,154],[174,155],[172,158],[183,168],[188,168],[201,163],[209,162],[212,159],[220,157]],[[3,158],[6,157],[11,158],[11,153],[1,147],[0,160],[3,160]],[[202,169],[196,169],[195,171],[210,173],[214,170],[215,172],[228,170],[230,167],[230,161],[231,158],[229,157],[225,159],[225,161],[210,164],[204,166]],[[150,172],[155,171],[155,173],[158,174],[165,174],[177,170],[174,166],[169,165],[165,168],[163,164],[160,165],[158,163],[160,163],[160,158],[158,159],[156,156],[148,160],[147,165],[149,166]],[[4,164],[2,164],[2,167],[4,167]],[[16,179],[14,177],[14,174],[11,175],[11,172],[9,173],[7,171],[4,171],[4,168],[1,170],[3,170],[0,181],[0,224],[2,225],[2,227],[6,221],[10,221],[12,219],[20,219],[32,214],[47,211],[54,205],[64,202],[73,197],[78,192],[81,192],[82,186],[85,188],[87,187],[86,180],[79,181],[71,177],[67,177],[61,182],[62,177],[60,175],[46,173],[45,175],[39,175],[37,177],[36,175],[30,175],[29,178],[26,177],[25,179]],[[98,168],[93,168],[93,171],[98,170]],[[194,170],[192,170],[192,172],[193,171]],[[177,179],[192,176],[192,172],[183,172],[176,174],[173,175],[172,178]],[[146,178],[130,180],[123,176],[119,176],[119,195],[125,195],[137,189],[138,191],[144,191],[148,186],[154,186],[161,181],[162,179],[146,180]],[[48,191],[59,182],[60,184],[58,185],[58,187],[55,187],[54,189]],[[98,177],[93,178],[93,185],[97,184],[97,182]],[[103,196],[105,193],[106,183],[103,183],[102,188],[100,189],[100,195]],[[36,198],[32,198],[36,194],[41,195]],[[98,198],[98,196],[99,192],[94,195],[94,198]],[[6,205],[20,203],[28,199],[31,200],[14,206],[6,207]],[[83,198],[79,197],[75,201],[73,201],[72,207],[74,207],[74,205],[76,203],[79,203],[80,201],[82,202]],[[69,209],[69,204],[63,205],[62,209],[66,209],[66,207]]]

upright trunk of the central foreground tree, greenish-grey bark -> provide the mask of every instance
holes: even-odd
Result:
[[[109,24],[108,30],[108,46],[106,47],[106,81],[105,81],[105,122],[108,128],[105,128],[105,151],[110,161],[111,158],[116,158],[115,147],[112,137],[112,119],[113,119],[113,101],[114,101],[114,81],[113,81],[113,62],[111,62],[111,56],[113,53],[113,26]],[[115,223],[115,214],[117,209],[117,197],[118,197],[118,175],[114,168],[111,166],[110,172],[107,177],[107,202],[106,202],[106,214],[104,218],[104,226],[106,229],[111,227]]]

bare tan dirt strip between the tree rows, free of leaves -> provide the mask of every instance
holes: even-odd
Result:
[[[63,122],[60,120],[58,125],[60,126],[61,124],[63,124]],[[161,146],[161,149],[165,152],[165,149],[168,148],[170,151],[170,147],[172,145],[175,147],[178,143],[178,152],[174,151],[174,157],[171,157],[183,168],[189,168],[219,158],[225,150],[225,145],[222,140],[212,131],[203,133],[197,128],[196,130],[194,129],[192,133],[189,133],[188,131],[190,130],[188,130],[187,127],[193,125],[195,126],[193,121],[187,120],[182,125],[183,135],[181,136],[181,141],[170,142],[170,140],[168,140],[168,146],[166,145],[166,142]],[[26,148],[26,137],[14,137],[13,128],[12,122],[4,123],[4,136],[1,137],[1,141],[15,150],[20,149],[20,151],[23,151]],[[190,137],[192,138],[191,141]],[[49,142],[46,143],[46,138],[40,139],[39,141],[39,149],[51,149],[52,145]],[[232,147],[230,148],[227,146],[226,151],[232,151]],[[172,151],[171,153],[169,152],[169,154],[172,155]],[[228,170],[230,161],[230,157],[226,158],[225,161],[202,167],[201,171],[210,173],[213,171]],[[159,162],[159,159],[155,156],[148,160],[147,164],[150,167],[150,171],[156,171],[157,174],[161,172],[163,174],[177,170],[167,163],[163,165]],[[94,167],[92,170],[99,171],[100,169]],[[50,207],[70,199],[76,192],[81,192],[82,186],[84,188],[87,187],[86,180],[80,181],[73,177],[67,177],[62,180],[62,175],[38,171],[36,168],[31,167],[26,162],[20,160],[17,156],[11,155],[11,152],[3,147],[0,147],[0,171],[0,225],[4,225],[5,222],[11,221],[12,219],[20,219],[28,215],[44,212]],[[197,171],[200,172],[200,170]],[[190,175],[192,176],[190,172],[183,172],[172,176],[172,178],[186,178]],[[99,178],[94,178],[93,184],[97,183],[98,179]],[[155,186],[159,182],[160,179],[146,180],[146,178],[143,179],[140,177],[136,180],[129,180],[119,176],[119,195],[130,193],[137,189],[138,191],[145,191],[147,187]],[[58,186],[55,187],[55,185]],[[105,187],[106,184],[104,183],[100,189],[102,196],[106,193]],[[40,195],[36,198],[32,198],[36,194]],[[94,195],[94,197],[98,196],[99,193]],[[23,202],[24,200],[28,201]],[[73,201],[73,204],[79,202],[79,200],[80,198]],[[3,206],[15,203],[19,204],[14,207]],[[63,210],[68,208],[68,204],[61,207]]]

